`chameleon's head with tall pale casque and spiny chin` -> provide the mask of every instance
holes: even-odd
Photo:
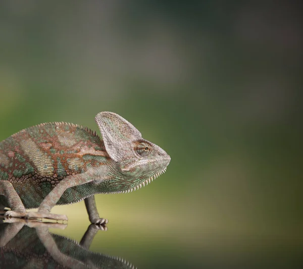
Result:
[[[95,117],[106,150],[116,163],[119,189],[129,192],[147,185],[166,171],[170,156],[159,146],[142,138],[127,120],[112,112]]]

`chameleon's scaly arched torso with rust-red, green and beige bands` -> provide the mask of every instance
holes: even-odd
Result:
[[[105,165],[109,159],[95,132],[69,123],[45,123],[0,142],[0,180],[10,181],[24,206],[33,208],[62,179]],[[58,204],[77,202],[88,196],[87,191],[71,188]],[[5,205],[4,196],[0,195],[0,203]]]

